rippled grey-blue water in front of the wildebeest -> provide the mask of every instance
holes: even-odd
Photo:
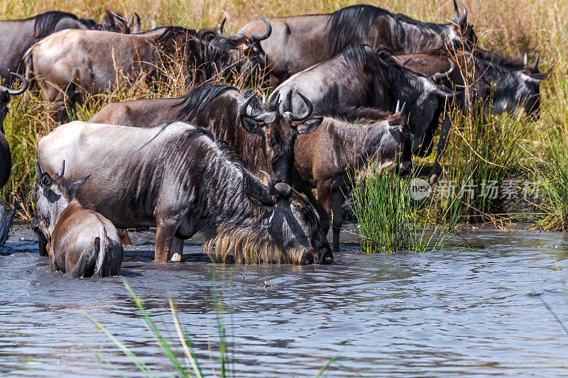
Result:
[[[180,352],[173,299],[207,375],[219,375],[215,288],[235,377],[314,377],[338,352],[342,366],[332,363],[328,376],[567,376],[568,335],[542,302],[568,325],[567,236],[464,236],[484,248],[359,255],[344,245],[332,266],[297,267],[214,266],[199,243],[185,246],[184,262],[155,265],[153,233],[135,233],[141,245],[123,269]],[[0,288],[1,375],[119,376],[93,350],[127,376],[143,375],[83,313],[159,376],[175,374],[121,278],[51,273],[26,226],[0,254]]]

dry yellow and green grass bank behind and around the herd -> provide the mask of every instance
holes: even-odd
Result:
[[[133,11],[146,13],[159,25],[174,24],[196,29],[214,27],[226,17],[226,33],[233,33],[258,16],[329,12],[356,3],[132,0],[126,4],[110,0],[81,3],[70,0],[6,0],[0,4],[0,18],[24,18],[59,9],[101,21],[104,9],[113,9],[129,15]],[[472,119],[466,115],[454,115],[449,145],[442,159],[444,175],[441,181],[455,182],[457,189],[447,197],[438,195],[431,199],[427,216],[422,218],[440,223],[459,214],[460,221],[533,221],[543,229],[565,230],[568,222],[568,4],[559,0],[464,3],[483,48],[519,57],[528,52],[531,61],[540,52],[541,70],[550,72],[550,77],[542,83],[542,113],[538,121],[509,117]],[[424,21],[447,21],[452,14],[451,1],[398,0],[369,4]],[[143,26],[148,27],[149,24],[144,22]],[[122,85],[107,94],[88,99],[79,109],[80,119],[88,119],[111,101],[182,94],[182,86],[175,75],[165,74],[163,77],[158,89],[148,87],[143,80],[127,82],[125,79]],[[12,149],[13,172],[9,184],[2,189],[0,200],[16,208],[21,218],[29,218],[31,213],[27,194],[33,184],[35,146],[56,126],[48,118],[39,94],[25,94],[13,99],[11,113],[4,125]],[[423,163],[430,162],[426,160]],[[461,191],[462,183],[470,180],[476,183],[474,189]],[[501,188],[510,181],[517,182],[520,194],[527,182],[537,182],[538,193],[535,196],[533,190],[530,195],[520,195],[516,199],[501,198],[501,193],[496,199],[480,196],[481,191],[487,189],[481,187],[483,182],[496,182]],[[456,201],[459,195],[461,197]]]

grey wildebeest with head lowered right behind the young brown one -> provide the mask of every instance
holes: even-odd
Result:
[[[300,112],[303,104],[297,101],[297,92],[313,104],[314,114],[333,115],[335,109],[346,106],[371,106],[393,111],[395,104],[406,103],[408,126],[414,135],[413,152],[427,156],[432,152],[432,138],[444,110],[447,98],[454,92],[434,82],[441,75],[426,77],[401,67],[391,53],[367,45],[349,45],[330,60],[294,74],[280,84],[268,99],[280,103],[280,111]],[[442,75],[443,76],[443,75]],[[442,123],[435,167],[430,182],[438,175],[438,157],[444,150],[449,118]]]

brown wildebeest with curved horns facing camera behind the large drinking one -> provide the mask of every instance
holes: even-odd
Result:
[[[300,101],[303,101],[300,97]],[[214,138],[229,143],[244,167],[259,177],[261,169],[277,182],[290,183],[297,135],[310,133],[322,118],[280,114],[264,109],[256,96],[230,85],[214,84],[177,99],[144,99],[104,106],[89,122],[148,127],[187,121],[207,128]]]

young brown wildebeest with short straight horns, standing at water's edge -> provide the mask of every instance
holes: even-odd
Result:
[[[412,170],[412,135],[404,116],[373,109],[349,113],[347,119],[324,117],[317,130],[297,138],[294,148],[295,188],[315,204],[324,230],[331,211],[334,251],[339,250],[342,202],[356,170],[371,160],[380,170],[398,169],[403,175]]]

